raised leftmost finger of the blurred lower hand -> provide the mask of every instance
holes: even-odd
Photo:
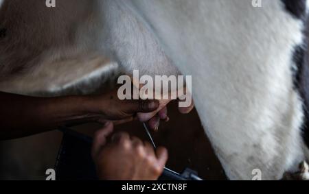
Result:
[[[104,125],[102,130],[98,130],[95,132],[95,136],[93,138],[93,146],[92,146],[92,156],[93,158],[98,154],[101,147],[106,145],[106,138],[113,132],[113,123],[107,122]]]

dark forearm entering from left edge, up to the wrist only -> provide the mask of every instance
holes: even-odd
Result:
[[[0,139],[53,130],[65,123],[93,121],[89,97],[25,97],[0,93]]]

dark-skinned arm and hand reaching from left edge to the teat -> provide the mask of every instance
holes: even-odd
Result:
[[[157,101],[120,101],[115,92],[51,98],[0,92],[0,140],[47,132],[65,124],[129,119],[158,106]]]

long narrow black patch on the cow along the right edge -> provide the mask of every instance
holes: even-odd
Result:
[[[308,47],[306,45],[295,48],[293,62],[296,68],[293,68],[294,86],[299,91],[299,95],[304,101],[304,122],[301,127],[304,134],[304,141],[309,147],[309,62],[308,62]]]

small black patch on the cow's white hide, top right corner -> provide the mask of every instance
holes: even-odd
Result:
[[[306,0],[281,0],[286,10],[297,19],[305,19]]]

